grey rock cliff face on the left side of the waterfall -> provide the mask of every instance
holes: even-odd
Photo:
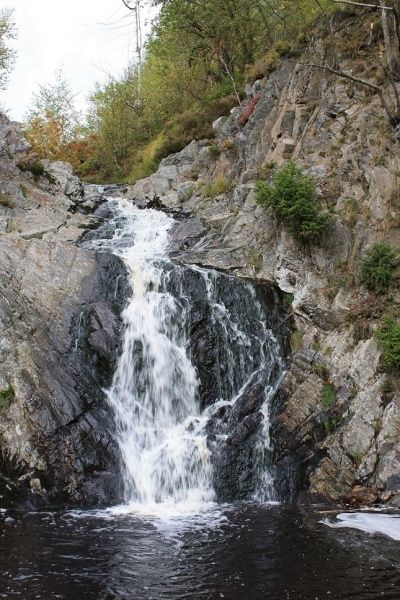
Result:
[[[103,199],[69,165],[29,158],[17,125],[1,117],[3,504],[115,496],[117,450],[102,386],[118,351],[113,281],[121,266],[77,244],[97,222],[86,213]]]

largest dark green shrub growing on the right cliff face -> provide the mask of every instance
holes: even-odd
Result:
[[[315,183],[293,161],[279,169],[272,185],[259,181],[257,202],[271,208],[286,229],[301,242],[315,241],[330,223],[329,213],[321,213]]]

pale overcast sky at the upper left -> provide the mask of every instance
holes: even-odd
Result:
[[[134,58],[134,13],[122,0],[0,0],[13,8],[17,24],[17,62],[0,103],[13,119],[23,118],[40,83],[54,82],[62,68],[85,108],[96,81],[123,71]],[[149,21],[143,10],[143,20]]]

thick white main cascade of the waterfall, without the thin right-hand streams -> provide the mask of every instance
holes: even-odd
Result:
[[[147,507],[196,506],[212,500],[211,467],[197,375],[187,353],[187,308],[164,286],[173,220],[126,200],[118,202],[117,215],[125,222],[114,242],[130,239],[130,245],[114,252],[128,270],[132,297],[122,314],[122,354],[107,394],[124,462],[125,498]]]

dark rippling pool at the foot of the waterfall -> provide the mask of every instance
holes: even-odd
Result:
[[[330,529],[317,508],[192,520],[0,515],[0,598],[399,600],[400,542]]]

